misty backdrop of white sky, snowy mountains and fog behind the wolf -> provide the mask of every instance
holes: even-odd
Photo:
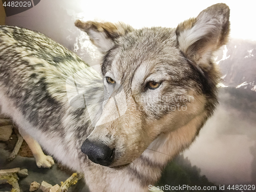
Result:
[[[196,167],[195,172],[200,177],[205,175],[216,185],[256,184],[254,1],[41,0],[32,9],[7,17],[6,25],[44,33],[93,66],[100,62],[100,53],[89,37],[75,28],[76,19],[122,21],[135,28],[177,27],[183,20],[197,16],[216,3],[226,3],[231,10],[230,42],[216,55],[223,74],[220,104],[199,137],[177,162]]]

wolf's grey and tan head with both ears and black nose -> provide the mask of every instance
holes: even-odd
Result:
[[[103,53],[105,92],[112,90],[83,143],[89,159],[110,167],[129,164],[156,138],[194,120],[193,131],[180,133],[192,134],[184,145],[190,144],[218,102],[212,57],[228,39],[228,6],[210,6],[177,28],[136,30],[80,20],[75,25]]]

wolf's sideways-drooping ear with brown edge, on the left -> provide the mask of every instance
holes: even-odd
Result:
[[[115,39],[134,30],[123,23],[82,22],[79,19],[76,20],[75,26],[89,35],[90,40],[101,53],[106,53],[113,48]]]

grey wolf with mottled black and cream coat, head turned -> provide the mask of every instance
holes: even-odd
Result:
[[[229,8],[212,5],[177,28],[75,26],[103,54],[103,80],[45,35],[0,27],[2,112],[83,172],[91,191],[148,191],[214,113],[220,73],[213,57],[228,41]]]

